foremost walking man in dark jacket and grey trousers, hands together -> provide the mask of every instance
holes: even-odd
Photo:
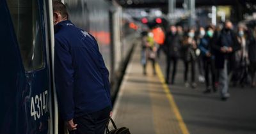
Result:
[[[221,100],[227,100],[230,97],[228,93],[228,73],[234,66],[234,52],[241,48],[232,27],[232,22],[227,20],[220,36],[212,43],[216,57],[215,65],[219,73],[218,87],[221,93]]]

